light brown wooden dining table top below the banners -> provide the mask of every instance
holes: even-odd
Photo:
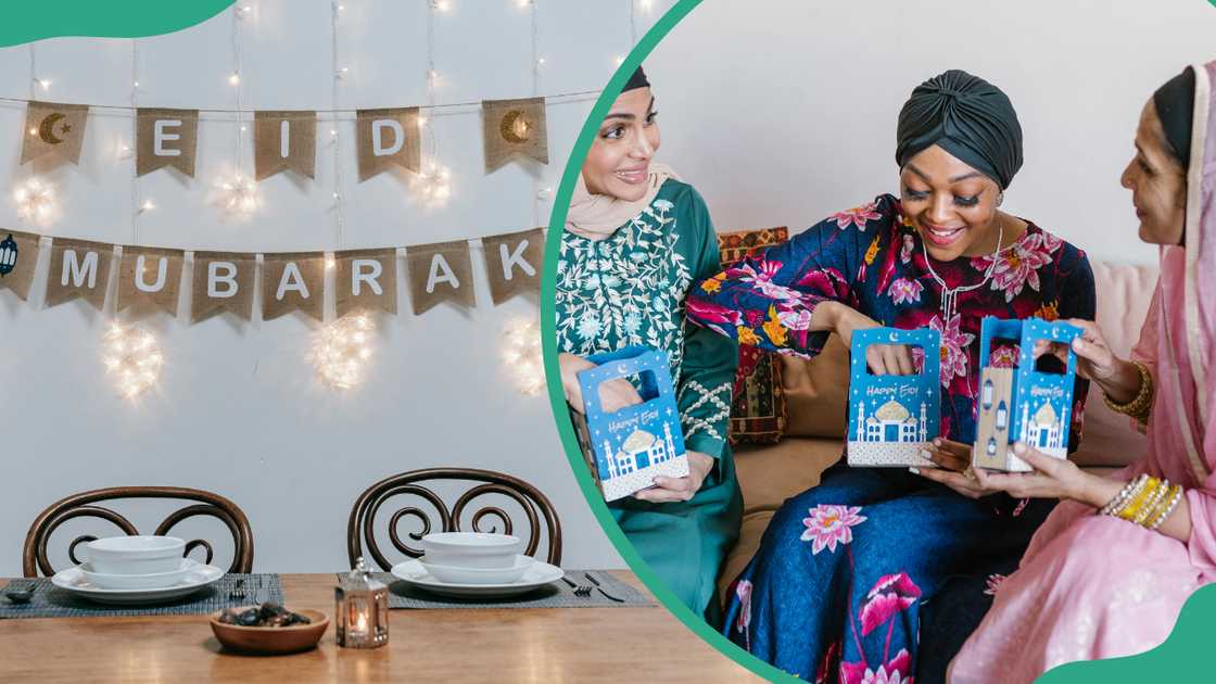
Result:
[[[629,571],[613,571],[647,596]],[[288,609],[333,616],[332,573],[282,574]],[[755,682],[662,605],[398,609],[389,643],[246,656],[208,616],[0,619],[0,682]]]

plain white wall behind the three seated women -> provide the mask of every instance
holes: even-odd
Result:
[[[705,0],[647,71],[660,157],[719,230],[803,230],[899,194],[895,122],[912,89],[962,68],[1003,89],[1025,133],[1004,208],[1091,257],[1154,263],[1119,175],[1141,107],[1216,58],[1207,0]]]

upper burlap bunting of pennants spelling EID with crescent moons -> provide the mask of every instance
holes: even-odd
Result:
[[[548,163],[545,99],[486,100],[482,103],[485,172],[513,157]],[[80,161],[88,105],[29,101],[21,163],[35,159]],[[198,110],[140,107],[135,111],[135,170],[145,175],[174,168],[195,178],[198,153]],[[422,117],[418,107],[358,110],[355,129],[359,180],[398,167],[422,169]],[[253,112],[255,178],[291,170],[313,179],[316,166],[316,112]]]

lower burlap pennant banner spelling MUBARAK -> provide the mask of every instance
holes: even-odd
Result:
[[[136,308],[178,318],[184,301],[190,323],[224,313],[252,320],[255,304],[263,320],[291,313],[323,320],[325,302],[332,298],[339,318],[353,312],[396,314],[402,265],[415,315],[444,302],[477,305],[468,240],[338,252],[206,252],[16,230],[0,230],[0,290],[29,301],[34,281],[43,279],[44,307],[84,299],[97,310],[106,310],[111,302],[118,312]],[[544,242],[541,229],[482,239],[495,304],[518,293],[540,292]],[[38,254],[44,248],[51,256],[38,275]],[[398,257],[401,250],[404,264]],[[111,288],[113,269],[118,275]]]

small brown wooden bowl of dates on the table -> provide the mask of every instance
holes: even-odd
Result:
[[[330,627],[319,611],[289,611],[278,604],[224,609],[212,616],[212,632],[226,649],[243,654],[294,654],[316,647]]]

